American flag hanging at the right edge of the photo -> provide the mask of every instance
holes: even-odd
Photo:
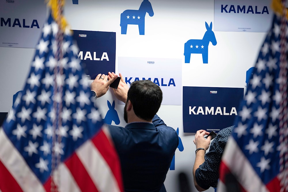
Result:
[[[217,191],[288,191],[286,29],[286,18],[274,15],[222,156]]]

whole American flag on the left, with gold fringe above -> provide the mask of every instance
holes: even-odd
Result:
[[[120,161],[77,53],[71,31],[62,33],[50,15],[0,130],[0,191],[123,191]]]

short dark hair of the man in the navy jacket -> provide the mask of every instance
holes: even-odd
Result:
[[[137,117],[151,121],[162,102],[162,91],[150,80],[134,81],[130,84],[127,101],[133,105]]]

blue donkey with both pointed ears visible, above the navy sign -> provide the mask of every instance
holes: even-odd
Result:
[[[203,63],[208,63],[208,45],[211,41],[212,45],[216,45],[217,41],[215,34],[212,31],[212,22],[208,26],[205,22],[207,31],[204,34],[203,39],[190,39],[184,45],[185,63],[190,63],[191,53],[202,54]]]

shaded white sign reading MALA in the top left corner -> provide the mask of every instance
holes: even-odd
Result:
[[[0,0],[0,46],[35,48],[46,15],[45,1]]]

